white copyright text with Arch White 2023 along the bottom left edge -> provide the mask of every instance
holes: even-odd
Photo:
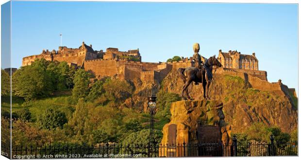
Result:
[[[50,154],[13,155],[13,159],[60,159],[60,158],[141,158],[142,154]]]

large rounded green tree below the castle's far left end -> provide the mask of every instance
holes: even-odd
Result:
[[[14,94],[25,100],[49,96],[53,86],[46,66],[46,60],[41,59],[17,70],[12,78]]]

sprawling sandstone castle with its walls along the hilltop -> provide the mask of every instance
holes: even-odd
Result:
[[[66,61],[68,65],[81,67],[92,72],[97,78],[103,76],[125,80],[139,78],[144,82],[156,81],[158,83],[172,70],[194,66],[191,57],[182,57],[178,62],[141,62],[139,49],[121,52],[117,48],[107,48],[103,52],[103,50],[93,50],[92,45],[88,46],[84,42],[79,48],[73,49],[60,46],[58,51],[43,50],[38,55],[24,57],[22,66],[31,65],[35,59],[41,58],[49,61]],[[254,89],[272,90],[280,95],[288,95],[289,90],[294,90],[288,89],[281,82],[268,82],[267,72],[258,69],[258,60],[255,53],[247,55],[237,51],[223,53],[219,50],[217,59],[221,62],[222,67],[214,70],[214,74],[239,76],[251,84]],[[204,57],[202,57],[202,60],[204,61]]]

